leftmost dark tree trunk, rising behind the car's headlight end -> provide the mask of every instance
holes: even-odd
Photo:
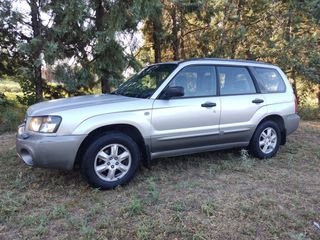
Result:
[[[30,0],[29,2],[30,9],[31,9],[31,27],[33,31],[34,38],[41,37],[41,19],[39,13],[39,7],[37,4],[37,0]],[[41,47],[37,47],[34,55],[34,84],[35,84],[35,97],[36,102],[41,102],[43,100],[43,81],[42,81],[42,74],[41,74]]]

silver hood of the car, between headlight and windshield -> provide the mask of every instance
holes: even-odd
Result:
[[[57,112],[63,112],[78,108],[85,109],[87,107],[93,107],[97,105],[109,105],[121,102],[132,102],[137,100],[139,99],[111,94],[62,98],[34,104],[31,107],[29,107],[27,114],[28,116],[49,115]]]

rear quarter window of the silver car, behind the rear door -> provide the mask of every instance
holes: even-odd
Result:
[[[255,67],[257,80],[263,93],[281,93],[286,91],[286,85],[276,69]]]

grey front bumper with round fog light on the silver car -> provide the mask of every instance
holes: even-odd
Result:
[[[71,170],[85,137],[23,133],[16,136],[16,150],[27,165]]]

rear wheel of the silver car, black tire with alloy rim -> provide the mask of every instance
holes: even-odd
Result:
[[[281,132],[278,124],[273,121],[265,121],[258,125],[249,149],[254,157],[271,158],[278,152],[280,142]]]

